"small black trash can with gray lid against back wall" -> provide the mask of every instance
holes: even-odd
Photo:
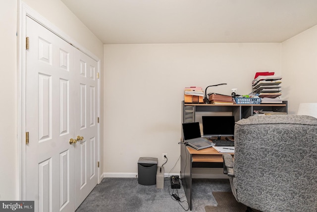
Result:
[[[140,157],[138,161],[138,183],[141,185],[155,185],[157,183],[157,157]]]

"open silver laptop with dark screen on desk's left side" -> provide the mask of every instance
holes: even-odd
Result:
[[[202,138],[199,122],[183,123],[182,125],[185,144],[188,144],[197,150],[208,148],[214,145],[214,143],[208,139]]]

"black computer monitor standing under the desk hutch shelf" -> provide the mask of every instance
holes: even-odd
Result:
[[[203,137],[234,136],[234,116],[203,116]]]

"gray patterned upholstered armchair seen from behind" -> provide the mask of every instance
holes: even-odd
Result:
[[[223,154],[236,200],[247,211],[317,211],[317,119],[252,116],[235,125],[235,154]]]

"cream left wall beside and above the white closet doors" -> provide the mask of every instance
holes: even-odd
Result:
[[[18,0],[1,1],[0,200],[18,200],[17,16]],[[104,46],[60,0],[24,0],[32,9],[101,59]],[[103,67],[101,67],[103,71]]]

